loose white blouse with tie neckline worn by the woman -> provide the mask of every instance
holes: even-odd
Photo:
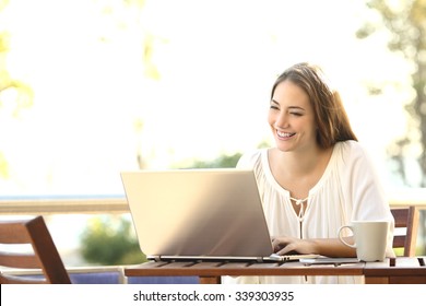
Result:
[[[268,161],[268,149],[241,156],[238,168],[253,169],[271,236],[336,238],[339,227],[358,220],[388,220],[391,228],[387,256],[392,250],[393,217],[366,151],[355,141],[338,142],[317,185],[309,190],[306,211],[297,215],[289,191],[279,185]],[[362,276],[240,276],[224,283],[362,283]]]

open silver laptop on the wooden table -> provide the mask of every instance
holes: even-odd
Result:
[[[276,256],[252,170],[123,172],[121,179],[147,259],[287,261]]]

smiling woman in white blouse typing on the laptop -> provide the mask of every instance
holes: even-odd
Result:
[[[276,254],[356,257],[338,239],[352,220],[392,222],[372,163],[358,144],[340,96],[309,63],[287,69],[272,87],[268,122],[276,146],[245,154],[252,168]],[[237,283],[358,283],[357,276],[241,276]]]

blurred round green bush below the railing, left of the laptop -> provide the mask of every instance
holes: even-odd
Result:
[[[122,216],[92,219],[81,236],[81,254],[87,262],[104,266],[146,261],[132,223]]]

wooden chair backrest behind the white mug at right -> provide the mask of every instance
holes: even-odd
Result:
[[[416,207],[401,209],[391,209],[395,220],[395,228],[405,227],[406,232],[393,236],[393,247],[404,248],[403,256],[413,257],[416,252],[417,228],[419,222],[419,212]]]

